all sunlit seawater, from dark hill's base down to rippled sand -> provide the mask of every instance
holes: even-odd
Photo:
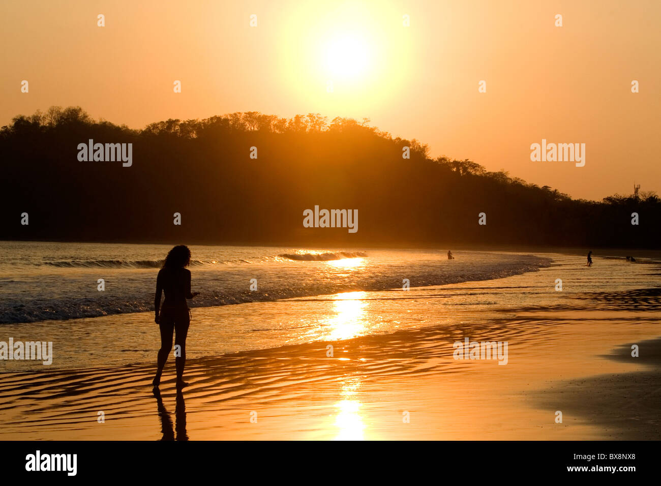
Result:
[[[155,362],[155,280],[170,246],[3,242],[0,248],[0,341],[52,341],[54,348],[49,366],[3,360],[3,372]],[[188,301],[188,359],[425,327],[479,329],[496,316],[511,318],[516,332],[520,309],[557,318],[613,292],[637,302],[637,289],[658,286],[656,266],[646,259],[595,256],[588,268],[583,256],[560,253],[459,249],[448,261],[446,249],[190,249],[192,290],[201,294]],[[637,319],[636,308],[627,319]]]

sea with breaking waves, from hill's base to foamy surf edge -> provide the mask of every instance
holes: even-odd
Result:
[[[153,310],[168,245],[0,242],[0,323]],[[447,250],[301,249],[191,245],[192,307],[356,290],[490,280],[549,263],[533,255]],[[98,290],[103,279],[104,290]],[[251,283],[256,290],[251,290]],[[251,282],[253,280],[253,282]]]

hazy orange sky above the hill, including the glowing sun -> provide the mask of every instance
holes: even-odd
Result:
[[[0,124],[318,112],[578,198],[661,192],[660,19],[658,0],[4,0]],[[530,161],[543,138],[586,143],[585,167]]]

